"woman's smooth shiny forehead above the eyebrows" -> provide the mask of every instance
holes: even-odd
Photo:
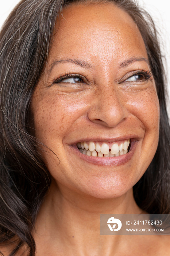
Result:
[[[122,61],[137,55],[147,58],[146,48],[125,11],[113,3],[71,4],[58,16],[49,60],[74,56]]]

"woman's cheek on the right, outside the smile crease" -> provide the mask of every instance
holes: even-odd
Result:
[[[159,140],[159,100],[155,89],[142,93],[131,101],[131,113],[140,120],[144,129],[141,157],[139,165],[145,165],[145,170],[154,158]],[[135,122],[134,122],[135,126]]]

